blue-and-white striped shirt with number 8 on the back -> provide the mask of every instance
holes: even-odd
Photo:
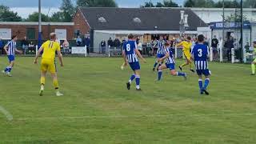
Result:
[[[126,53],[126,58],[129,63],[138,62],[138,56],[135,53],[136,49],[137,49],[137,44],[134,41],[129,40],[123,44],[123,50]]]

